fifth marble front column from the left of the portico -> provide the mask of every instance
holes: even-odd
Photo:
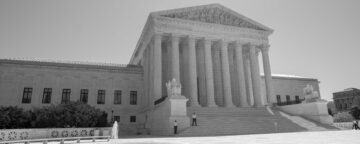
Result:
[[[235,107],[232,102],[231,94],[231,81],[230,81],[230,68],[229,68],[229,57],[228,57],[228,43],[224,40],[221,43],[221,70],[223,79],[223,94],[224,94],[224,106]]]

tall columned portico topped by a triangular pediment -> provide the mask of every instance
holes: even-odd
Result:
[[[130,61],[143,64],[149,106],[182,84],[191,107],[263,107],[270,101],[270,28],[221,5],[151,13]],[[266,95],[261,95],[259,54]]]

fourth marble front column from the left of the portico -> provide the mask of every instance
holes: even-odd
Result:
[[[205,75],[206,75],[206,95],[207,95],[207,106],[217,107],[215,104],[214,97],[214,72],[211,57],[211,41],[204,39],[204,53],[205,53]]]

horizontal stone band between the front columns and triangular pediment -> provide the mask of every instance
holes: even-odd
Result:
[[[248,28],[205,23],[176,18],[154,17],[154,27],[157,33],[177,33],[180,35],[195,35],[219,39],[244,40],[248,42],[268,42],[267,31]]]

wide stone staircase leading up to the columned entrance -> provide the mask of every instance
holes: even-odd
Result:
[[[279,111],[263,108],[191,108],[187,109],[191,118],[197,115],[197,126],[180,131],[177,136],[211,136],[263,134],[276,132],[307,131]]]

